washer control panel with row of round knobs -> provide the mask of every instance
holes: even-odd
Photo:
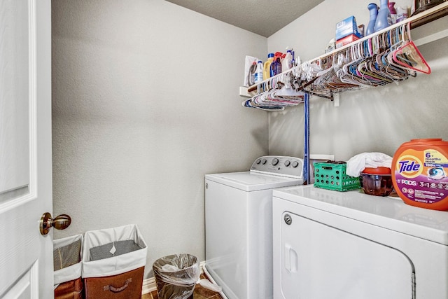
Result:
[[[303,159],[279,155],[265,155],[252,163],[251,172],[276,174],[302,179]]]

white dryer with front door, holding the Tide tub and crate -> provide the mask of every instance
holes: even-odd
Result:
[[[274,298],[448,298],[447,211],[312,185],[273,195]]]

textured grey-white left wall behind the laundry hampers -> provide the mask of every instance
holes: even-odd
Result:
[[[139,225],[153,261],[204,260],[204,174],[267,154],[267,113],[241,106],[244,57],[267,39],[162,0],[52,1],[54,214]],[[151,273],[150,273],[151,272]]]

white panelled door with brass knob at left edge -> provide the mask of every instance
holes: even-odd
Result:
[[[0,298],[53,296],[50,4],[0,0]]]

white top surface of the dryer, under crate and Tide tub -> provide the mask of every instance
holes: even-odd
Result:
[[[366,195],[359,190],[338,192],[312,185],[281,188],[273,194],[297,204],[448,245],[448,211],[412,207],[400,197]],[[294,212],[300,214],[300,209],[297,210]]]

